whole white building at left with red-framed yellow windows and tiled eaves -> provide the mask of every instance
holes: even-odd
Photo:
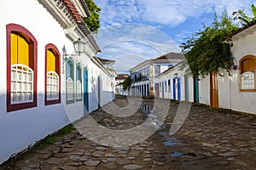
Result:
[[[113,74],[95,57],[84,0],[3,0],[0,8],[2,163],[111,101]]]

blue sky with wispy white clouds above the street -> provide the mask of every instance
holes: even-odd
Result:
[[[102,8],[95,36],[102,53],[116,60],[117,72],[129,71],[145,59],[180,52],[184,38],[207,26],[216,12],[238,9],[252,16],[253,0],[94,0]]]

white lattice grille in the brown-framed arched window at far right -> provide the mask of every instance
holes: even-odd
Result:
[[[247,71],[241,74],[241,89],[254,89],[254,73]]]

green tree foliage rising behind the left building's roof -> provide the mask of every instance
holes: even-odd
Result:
[[[90,17],[84,18],[84,23],[88,26],[89,30],[93,33],[97,33],[100,28],[100,13],[99,8],[93,0],[84,0],[90,11]]]

